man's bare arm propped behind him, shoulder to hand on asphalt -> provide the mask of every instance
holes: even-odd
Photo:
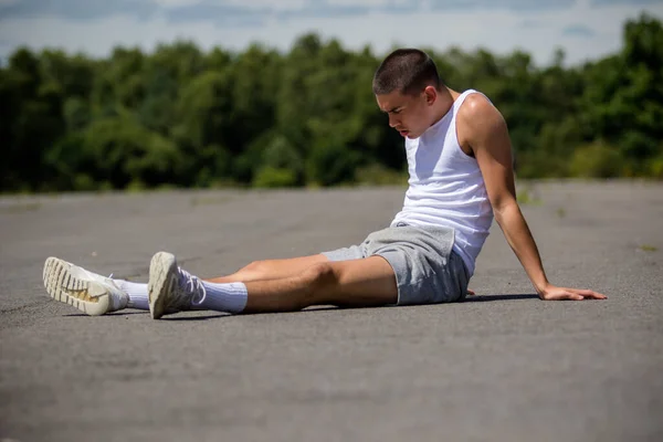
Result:
[[[590,290],[557,287],[548,282],[541,259],[516,200],[512,146],[499,112],[471,95],[459,112],[459,140],[467,143],[482,171],[495,221],[541,299],[606,298]]]

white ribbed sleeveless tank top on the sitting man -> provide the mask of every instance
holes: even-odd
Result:
[[[452,108],[419,138],[406,138],[410,179],[403,209],[391,225],[446,225],[455,229],[453,250],[470,275],[488,236],[493,209],[476,159],[466,155],[456,135],[456,114],[470,94],[462,93]],[[483,94],[482,94],[483,95]]]

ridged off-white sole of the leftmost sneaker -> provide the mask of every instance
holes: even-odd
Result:
[[[44,287],[55,301],[76,307],[91,316],[108,312],[108,291],[94,281],[82,280],[71,274],[73,264],[57,257],[49,257],[44,263]]]

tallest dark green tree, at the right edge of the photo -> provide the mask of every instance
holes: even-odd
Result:
[[[663,137],[663,28],[648,14],[627,22],[624,48],[590,64],[581,120],[587,138],[606,139],[620,150],[627,176],[643,175],[661,152]]]

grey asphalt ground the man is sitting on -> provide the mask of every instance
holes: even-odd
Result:
[[[404,189],[0,198],[0,441],[661,441],[663,183],[519,183],[552,283],[498,225],[464,303],[151,320],[48,297],[48,256],[145,282],[349,245]]]

